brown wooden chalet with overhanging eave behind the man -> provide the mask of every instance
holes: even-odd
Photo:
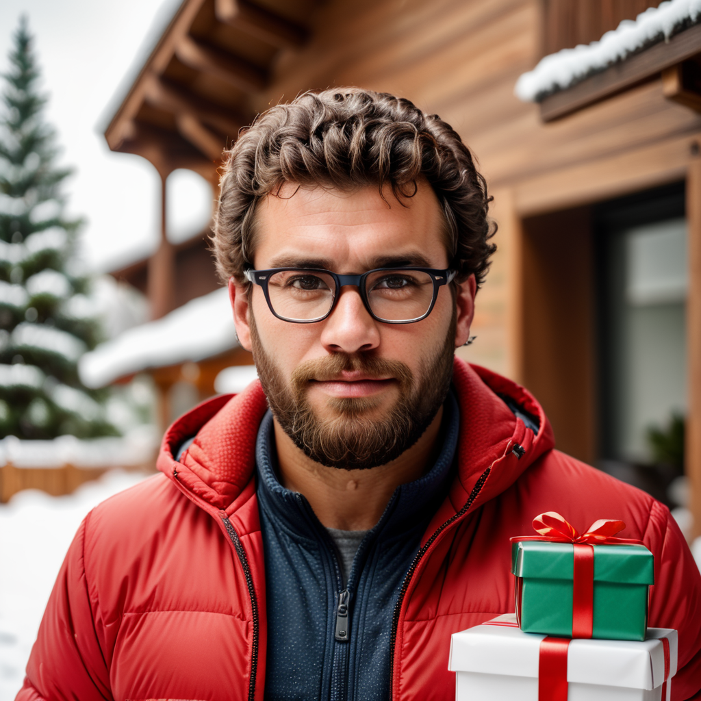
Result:
[[[164,182],[191,168],[215,183],[238,129],[304,90],[363,86],[440,114],[477,156],[499,225],[477,341],[460,353],[524,383],[558,446],[591,463],[643,461],[648,423],[682,411],[699,535],[701,27],[540,104],[514,93],[544,55],[597,40],[653,4],[184,0],[105,136]],[[669,273],[667,292],[654,265],[645,277],[655,250],[670,260],[681,251],[686,266]],[[198,256],[164,233],[142,262],[156,316],[179,301],[178,266]]]

